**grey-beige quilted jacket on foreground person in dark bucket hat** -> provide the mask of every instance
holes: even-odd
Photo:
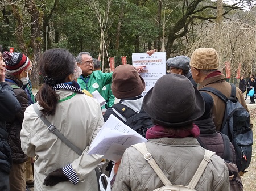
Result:
[[[196,138],[159,138],[146,142],[147,150],[172,184],[189,184],[205,151]],[[151,191],[164,186],[150,164],[135,148],[127,148],[112,191]],[[229,190],[229,172],[224,160],[213,155],[195,190]]]

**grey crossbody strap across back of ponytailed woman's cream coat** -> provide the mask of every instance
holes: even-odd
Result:
[[[60,133],[60,131],[57,130],[55,126],[47,120],[46,117],[42,116],[42,112],[40,112],[38,105],[36,103],[33,104],[33,107],[35,109],[36,114],[38,114],[39,118],[44,122],[44,124],[46,124],[46,126],[48,126],[49,131],[55,134],[61,141],[63,141],[69,148],[75,151],[79,156],[82,155],[82,151],[80,150],[80,148],[73,145],[73,143],[70,142],[62,133]]]

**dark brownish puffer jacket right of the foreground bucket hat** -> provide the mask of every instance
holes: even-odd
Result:
[[[226,149],[229,154],[227,155],[227,158],[224,157],[224,141],[221,134],[216,132],[216,127],[212,118],[195,121],[195,124],[200,129],[200,135],[197,139],[200,139],[200,141],[203,142],[206,149],[215,152],[216,155],[220,156],[224,160],[236,163],[234,147],[229,141],[229,138],[223,134],[226,141],[229,142],[229,146]]]

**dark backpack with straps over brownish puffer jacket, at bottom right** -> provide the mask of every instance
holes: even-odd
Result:
[[[230,162],[230,157],[233,158],[233,152],[229,147],[229,140],[228,138],[225,138],[225,135],[221,132],[218,132],[221,134],[221,137],[223,139],[224,143],[224,151],[222,155],[222,159],[224,159],[224,162],[226,164],[226,167],[229,169],[229,185],[230,185],[230,191],[243,191],[243,184],[242,180],[237,168],[237,165]],[[197,137],[197,141],[200,143],[201,147],[207,149],[204,145],[204,143],[201,141],[200,137]]]

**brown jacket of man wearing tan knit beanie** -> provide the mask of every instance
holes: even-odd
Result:
[[[222,94],[224,94],[226,97],[230,97],[231,95],[231,85],[230,83],[226,82],[225,75],[223,74],[204,79],[203,82],[199,85],[198,89],[200,90],[204,87],[216,88],[217,90],[221,91]],[[210,94],[213,98],[213,121],[216,126],[216,131],[220,131],[226,105],[224,101],[218,98],[218,96],[212,94],[211,92],[207,93]],[[236,97],[238,98],[239,103],[241,103],[242,106],[248,110],[243,94],[238,87],[236,91]],[[252,122],[250,122],[250,127],[251,129],[253,128]]]

